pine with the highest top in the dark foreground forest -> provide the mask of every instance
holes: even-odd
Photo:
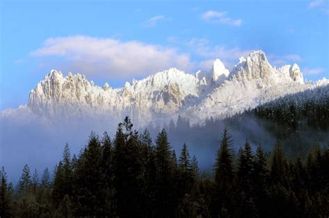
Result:
[[[138,133],[132,127],[130,118],[126,117],[115,136],[113,172],[119,217],[142,216],[144,210],[144,202],[138,200],[144,194],[142,149]]]

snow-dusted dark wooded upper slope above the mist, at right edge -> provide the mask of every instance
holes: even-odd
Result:
[[[256,107],[260,118],[298,131],[303,125],[327,130],[329,128],[329,85],[287,95]]]

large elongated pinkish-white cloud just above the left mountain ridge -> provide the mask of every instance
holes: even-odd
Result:
[[[104,78],[137,78],[169,67],[194,68],[189,55],[176,48],[83,35],[47,39],[31,56],[47,69]]]

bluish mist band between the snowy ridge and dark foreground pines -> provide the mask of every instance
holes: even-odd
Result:
[[[91,131],[102,137],[108,131],[114,138],[118,122],[110,117],[72,117],[57,120],[40,119],[37,116],[27,120],[1,119],[0,121],[0,163],[5,167],[9,181],[17,183],[25,164],[30,170],[35,168],[42,174],[45,167],[52,172],[53,167],[62,156],[66,143],[71,149],[71,156],[78,155],[88,143]],[[123,120],[123,119],[122,119]],[[133,119],[132,119],[133,120]],[[219,149],[223,129],[233,140],[233,149],[238,152],[246,140],[255,148],[260,145],[265,152],[271,151],[279,140],[289,156],[305,156],[307,149],[318,143],[328,145],[328,132],[312,129],[307,125],[298,131],[289,131],[287,127],[275,125],[268,120],[256,118],[252,112],[246,111],[224,120],[205,120],[199,125],[190,125],[189,120],[178,117],[164,127],[149,125],[136,127],[139,133],[148,129],[155,143],[156,136],[165,128],[172,149],[176,156],[186,143],[190,156],[196,156],[201,170],[210,171],[214,165],[217,149]]]

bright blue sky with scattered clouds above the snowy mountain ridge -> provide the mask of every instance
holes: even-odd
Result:
[[[261,49],[271,64],[328,78],[328,0],[0,1],[0,109],[25,104],[51,69],[120,87],[178,67],[230,69]]]

